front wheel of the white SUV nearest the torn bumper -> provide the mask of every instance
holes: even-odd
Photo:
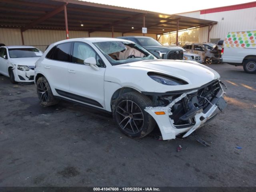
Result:
[[[152,101],[137,92],[121,95],[112,106],[118,128],[131,138],[142,138],[152,132],[156,122],[144,109],[153,106]]]

